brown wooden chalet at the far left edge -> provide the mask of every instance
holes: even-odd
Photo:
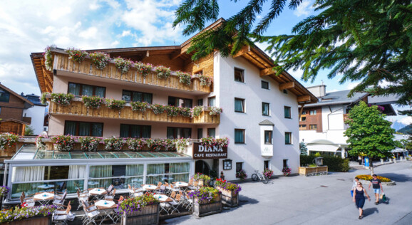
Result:
[[[31,117],[23,112],[33,105],[34,103],[0,83],[0,132],[24,135],[26,125],[31,124]]]

